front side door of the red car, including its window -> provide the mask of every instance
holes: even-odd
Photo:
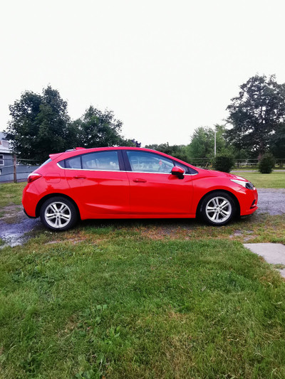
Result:
[[[130,180],[130,212],[145,217],[187,217],[191,213],[192,176],[172,175],[175,161],[148,151],[123,152]]]

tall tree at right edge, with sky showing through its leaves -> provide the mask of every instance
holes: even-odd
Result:
[[[274,75],[255,75],[240,86],[239,96],[227,107],[229,142],[237,150],[249,149],[260,156],[268,149],[271,134],[285,119],[285,84],[278,84]]]

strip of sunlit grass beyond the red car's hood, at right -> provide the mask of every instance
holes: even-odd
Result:
[[[271,174],[259,172],[234,172],[233,174],[247,178],[258,188],[285,188],[285,172],[274,171]]]

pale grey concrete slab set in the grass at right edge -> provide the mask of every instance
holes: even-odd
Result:
[[[285,245],[281,243],[244,243],[244,247],[264,257],[272,265],[285,265]],[[279,272],[285,277],[285,269],[279,269]]]

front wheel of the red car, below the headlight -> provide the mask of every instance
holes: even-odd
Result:
[[[226,225],[236,213],[237,207],[232,196],[221,191],[209,193],[200,208],[202,219],[215,226]]]

